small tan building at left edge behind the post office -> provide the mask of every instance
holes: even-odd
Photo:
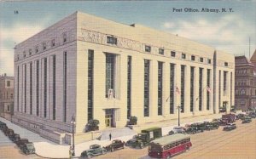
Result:
[[[14,77],[0,76],[0,116],[11,119],[14,115],[15,101]]]

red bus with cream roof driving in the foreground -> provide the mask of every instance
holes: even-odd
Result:
[[[154,139],[149,143],[148,156],[154,158],[171,158],[192,146],[188,134],[176,133]]]

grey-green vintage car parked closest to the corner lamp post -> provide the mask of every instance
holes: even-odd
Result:
[[[90,145],[90,149],[84,150],[81,153],[81,157],[91,158],[93,156],[99,156],[106,153],[107,153],[107,150],[101,147],[101,145]]]

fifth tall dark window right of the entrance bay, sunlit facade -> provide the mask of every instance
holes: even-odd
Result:
[[[184,112],[184,90],[185,90],[185,65],[181,65],[181,78],[180,78],[180,106],[181,112]]]

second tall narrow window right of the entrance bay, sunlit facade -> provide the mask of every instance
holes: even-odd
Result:
[[[149,116],[149,71],[150,60],[144,60],[144,116]]]

